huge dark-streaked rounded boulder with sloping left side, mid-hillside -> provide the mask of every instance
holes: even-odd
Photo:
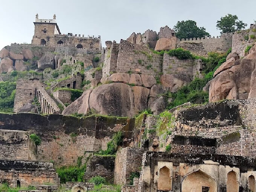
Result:
[[[92,110],[99,114],[133,117],[147,108],[149,91],[146,87],[124,83],[100,85],[94,90],[85,91],[62,114],[86,114]]]

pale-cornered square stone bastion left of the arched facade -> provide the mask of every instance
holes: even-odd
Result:
[[[130,174],[140,171],[142,154],[142,148],[126,147],[117,151],[114,170],[115,184],[129,184]]]

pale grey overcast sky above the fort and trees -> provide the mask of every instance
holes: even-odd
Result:
[[[250,26],[256,20],[256,0],[0,0],[0,49],[11,43],[31,43],[35,15],[56,20],[62,34],[101,35],[105,41],[126,39],[133,32],[159,31],[177,21],[194,20],[212,36],[216,21],[235,14]]]

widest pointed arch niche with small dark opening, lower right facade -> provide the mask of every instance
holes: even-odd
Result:
[[[181,192],[216,192],[216,181],[203,171],[195,171],[184,177]]]

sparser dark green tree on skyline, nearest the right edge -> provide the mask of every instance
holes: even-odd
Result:
[[[247,24],[243,21],[238,20],[236,15],[228,14],[225,17],[221,17],[220,21],[217,21],[217,29],[222,30],[221,34],[233,33],[236,30],[244,29]]]

